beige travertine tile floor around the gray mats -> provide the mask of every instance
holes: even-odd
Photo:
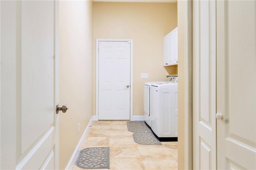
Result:
[[[110,147],[110,170],[176,170],[178,142],[142,145],[134,142],[127,121],[95,121],[82,149]],[[76,164],[73,170],[82,170]],[[101,169],[102,170],[102,169]]]

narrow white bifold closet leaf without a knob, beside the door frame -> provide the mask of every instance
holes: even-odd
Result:
[[[216,2],[193,1],[193,169],[216,169]]]

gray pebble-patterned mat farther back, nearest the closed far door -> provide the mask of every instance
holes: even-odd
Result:
[[[130,132],[151,132],[144,121],[129,121],[127,128]]]

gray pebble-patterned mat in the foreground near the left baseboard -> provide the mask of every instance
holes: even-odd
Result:
[[[110,148],[92,147],[80,151],[76,166],[83,169],[109,169]]]

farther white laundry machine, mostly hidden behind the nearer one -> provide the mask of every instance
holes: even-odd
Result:
[[[148,127],[151,127],[151,119],[150,119],[150,86],[155,83],[170,83],[171,75],[167,75],[166,81],[151,81],[144,83],[144,117],[145,123]],[[177,76],[177,75],[175,75]]]

